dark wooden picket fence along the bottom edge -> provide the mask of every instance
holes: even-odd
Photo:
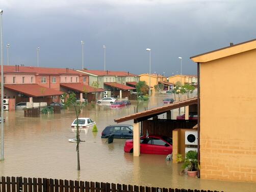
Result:
[[[1,192],[219,192],[46,178],[1,177]]]

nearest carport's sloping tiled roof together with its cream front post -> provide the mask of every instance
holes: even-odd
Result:
[[[161,107],[151,108],[143,112],[139,112],[130,116],[125,116],[119,119],[115,119],[116,123],[121,123],[124,121],[134,120],[133,125],[133,155],[139,156],[140,155],[140,128],[139,122],[150,119],[152,117],[164,114],[169,112],[172,109],[180,108],[180,107],[187,107],[189,105],[197,104],[197,97],[185,99],[182,101],[174,102],[171,104],[167,104]]]

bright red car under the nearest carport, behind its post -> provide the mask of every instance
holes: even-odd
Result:
[[[126,140],[124,152],[133,152],[133,140]],[[162,135],[148,135],[140,138],[140,153],[168,155],[172,153],[172,139]]]

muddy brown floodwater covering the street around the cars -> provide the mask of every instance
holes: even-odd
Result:
[[[153,96],[150,102],[140,102],[139,111],[147,106],[161,106],[163,98],[170,98],[170,95]],[[83,109],[80,117],[96,121],[98,132],[92,132],[92,128],[81,132],[81,140],[86,142],[80,145],[80,172],[76,170],[75,143],[68,142],[75,136],[70,127],[75,119],[72,110],[41,115],[40,118],[24,118],[23,111],[5,112],[5,160],[0,162],[0,174],[155,187],[224,191],[255,189],[254,183],[181,176],[181,165],[166,161],[165,155],[141,154],[140,157],[133,157],[133,154],[123,152],[125,140],[114,139],[114,143],[107,144],[106,139],[100,138],[101,131],[107,125],[115,124],[115,118],[133,114],[135,105],[136,101],[123,108],[89,105]],[[132,124],[132,121],[124,124]]]

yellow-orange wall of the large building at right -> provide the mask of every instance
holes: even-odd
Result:
[[[201,178],[256,182],[256,49],[201,64]]]

